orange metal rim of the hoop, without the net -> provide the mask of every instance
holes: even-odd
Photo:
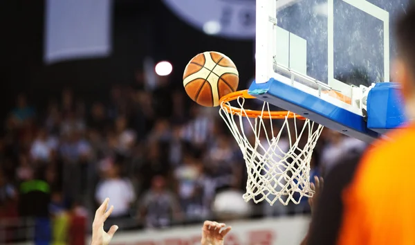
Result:
[[[255,110],[249,110],[244,109],[242,112],[242,109],[237,107],[232,107],[228,104],[228,102],[232,100],[237,100],[238,98],[243,97],[246,99],[256,99],[254,96],[251,96],[248,93],[248,89],[241,90],[241,91],[235,91],[233,93],[228,93],[226,96],[223,96],[221,100],[219,100],[219,105],[221,105],[222,109],[225,109],[227,113],[232,113],[240,115],[240,116],[246,116],[248,118],[265,118],[265,119],[284,119],[284,118],[297,118],[301,120],[305,120],[303,116],[299,116],[297,114],[294,114],[291,111],[270,111],[270,112],[263,112],[263,111],[255,111]]]

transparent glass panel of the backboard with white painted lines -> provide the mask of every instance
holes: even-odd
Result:
[[[276,61],[347,93],[389,82],[394,21],[409,0],[275,0]]]

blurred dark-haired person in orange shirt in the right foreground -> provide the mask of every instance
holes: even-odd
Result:
[[[409,123],[326,176],[308,244],[415,244],[415,5],[396,24],[395,79]]]

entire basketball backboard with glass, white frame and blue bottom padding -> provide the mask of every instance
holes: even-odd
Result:
[[[257,0],[250,95],[360,140],[377,138],[367,98],[374,83],[390,80],[394,21],[409,1]]]

